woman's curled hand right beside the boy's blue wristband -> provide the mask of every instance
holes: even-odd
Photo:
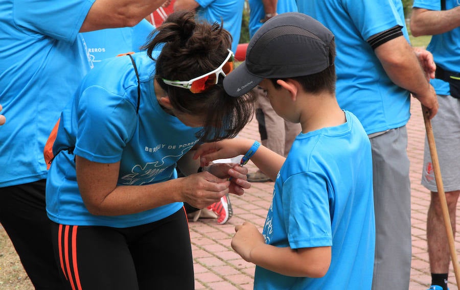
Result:
[[[208,171],[219,178],[230,180],[229,192],[242,196],[244,189],[251,187],[247,181],[247,168],[238,166],[237,163],[214,163],[208,167]]]

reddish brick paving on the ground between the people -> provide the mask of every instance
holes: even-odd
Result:
[[[407,124],[407,151],[410,159],[412,189],[412,269],[409,289],[420,290],[428,288],[431,282],[426,246],[429,191],[420,184],[425,125],[420,103],[415,99],[412,99],[411,113],[411,119]],[[255,119],[244,128],[240,136],[260,139]],[[256,170],[250,161],[246,166],[249,167],[250,172]],[[255,223],[259,229],[262,229],[271,203],[272,190],[273,182],[252,183],[244,196],[231,196],[234,216],[225,225],[218,225],[215,220],[205,219],[190,223],[197,290],[252,289],[255,266],[236,254],[230,242],[235,225],[244,221]],[[460,229],[458,226],[457,228]],[[459,246],[457,239],[455,248],[459,249]],[[449,280],[450,290],[457,290],[452,266]]]

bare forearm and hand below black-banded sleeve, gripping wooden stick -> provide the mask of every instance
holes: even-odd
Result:
[[[434,88],[410,44],[404,36],[390,39],[375,48],[380,63],[388,77],[398,86],[412,92],[429,110],[429,118],[438,112],[438,99]]]

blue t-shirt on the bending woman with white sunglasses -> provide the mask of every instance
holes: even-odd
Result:
[[[133,55],[141,80],[128,56],[109,58],[91,70],[75,99],[61,115],[54,149],[75,146],[74,154],[90,161],[120,161],[119,185],[146,185],[177,177],[176,161],[198,142],[191,128],[166,113],[153,87],[155,62],[145,52]],[[132,227],[158,221],[179,210],[172,203],[135,214],[97,216],[88,212],[76,180],[74,155],[61,151],[47,180],[49,218],[66,225]]]

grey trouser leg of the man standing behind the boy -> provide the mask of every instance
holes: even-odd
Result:
[[[406,127],[371,138],[376,223],[373,290],[408,289],[410,179]]]

